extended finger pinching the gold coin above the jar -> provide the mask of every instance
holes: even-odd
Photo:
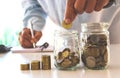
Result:
[[[74,3],[75,3],[75,0],[67,0],[65,17],[64,17],[66,24],[70,24],[77,15],[74,9]]]

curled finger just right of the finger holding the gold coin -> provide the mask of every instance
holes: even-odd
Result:
[[[74,4],[75,10],[82,14],[84,12],[86,0],[76,0]]]

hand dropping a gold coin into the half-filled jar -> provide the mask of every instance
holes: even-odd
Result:
[[[64,21],[69,24],[77,14],[100,11],[108,2],[109,0],[67,0]]]

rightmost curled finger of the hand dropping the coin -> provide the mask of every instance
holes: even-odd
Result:
[[[100,11],[105,5],[107,5],[109,0],[98,0],[95,6],[95,11]]]

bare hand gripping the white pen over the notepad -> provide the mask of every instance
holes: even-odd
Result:
[[[30,29],[24,28],[19,33],[19,43],[23,48],[33,48],[33,42],[37,43],[42,36],[42,32],[34,30],[34,38],[31,36]]]

